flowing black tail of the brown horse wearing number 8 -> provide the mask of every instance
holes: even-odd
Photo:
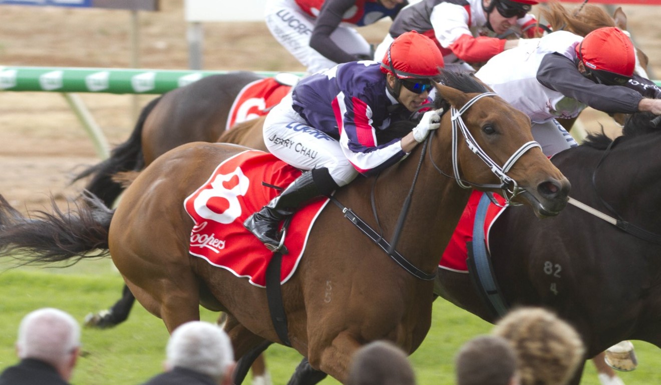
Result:
[[[71,203],[67,213],[37,211],[23,217],[0,195],[0,257],[12,257],[21,265],[47,264],[107,256],[108,229],[114,211],[89,195]]]

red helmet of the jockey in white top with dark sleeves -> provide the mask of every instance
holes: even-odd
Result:
[[[587,34],[576,47],[576,55],[588,72],[614,81],[607,83],[626,83],[636,67],[631,40],[615,27],[598,28]]]

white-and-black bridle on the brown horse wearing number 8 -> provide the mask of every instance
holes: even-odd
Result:
[[[444,176],[449,176],[449,178],[454,178],[454,180],[457,181],[457,184],[461,188],[473,188],[473,187],[483,187],[483,188],[500,188],[502,191],[502,197],[505,198],[505,203],[504,205],[500,205],[499,203],[496,203],[497,205],[500,205],[501,207],[508,207],[510,205],[519,205],[520,203],[514,203],[512,202],[512,199],[514,199],[517,195],[520,193],[524,192],[524,188],[520,188],[518,186],[518,183],[516,180],[510,178],[507,176],[507,172],[514,166],[514,163],[516,163],[519,158],[521,158],[529,149],[533,149],[534,147],[539,147],[541,149],[541,146],[539,143],[536,141],[529,141],[527,143],[524,143],[521,147],[519,147],[518,150],[514,151],[512,156],[505,162],[505,164],[501,166],[498,166],[494,160],[489,157],[486,152],[479,146],[477,141],[475,141],[475,138],[469,131],[468,127],[466,127],[466,124],[463,122],[463,119],[461,118],[461,115],[463,115],[464,112],[466,112],[475,102],[480,100],[481,98],[484,98],[485,96],[498,96],[494,92],[485,92],[483,94],[479,94],[475,97],[473,97],[471,100],[469,100],[466,104],[464,104],[461,109],[457,110],[454,107],[451,107],[449,112],[451,114],[451,122],[452,122],[452,169],[453,169],[453,174],[454,176],[449,176],[443,170],[441,170],[435,163],[433,158],[431,158],[431,153],[430,153],[430,159],[432,160],[432,165],[434,165],[434,168],[436,170],[444,175]],[[475,153],[479,158],[483,160],[483,162],[486,163],[486,166],[493,172],[496,177],[500,180],[500,185],[492,185],[492,184],[476,184],[473,182],[468,182],[466,180],[463,180],[461,176],[459,175],[459,160],[458,160],[458,152],[457,152],[457,147],[458,147],[458,132],[461,131],[461,134],[463,135],[463,139],[466,142],[466,145],[468,148]],[[432,131],[433,133],[434,131]],[[431,135],[430,135],[431,137]],[[428,140],[431,140],[429,138]],[[494,199],[492,199],[494,201]]]

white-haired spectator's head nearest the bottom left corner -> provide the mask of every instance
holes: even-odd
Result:
[[[52,365],[65,380],[71,378],[80,350],[80,326],[62,310],[42,308],[20,322],[16,342],[20,359],[37,359]]]

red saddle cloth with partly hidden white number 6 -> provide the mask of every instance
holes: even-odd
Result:
[[[291,86],[283,85],[272,77],[256,80],[249,83],[234,100],[225,131],[233,127],[236,123],[259,118],[268,114],[271,108],[280,103],[280,100],[292,89]]]

